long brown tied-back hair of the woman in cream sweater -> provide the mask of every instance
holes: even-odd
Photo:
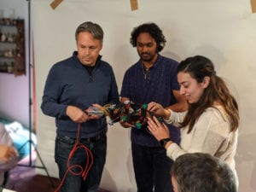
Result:
[[[200,100],[189,104],[189,110],[181,127],[189,125],[188,133],[193,129],[195,121],[207,108],[213,107],[213,102],[219,102],[223,107],[230,121],[230,131],[236,131],[239,125],[238,105],[234,96],[224,83],[224,80],[216,75],[212,61],[207,57],[195,55],[181,61],[177,67],[177,73],[189,73],[198,83],[205,77],[210,78],[207,88],[204,90]]]

